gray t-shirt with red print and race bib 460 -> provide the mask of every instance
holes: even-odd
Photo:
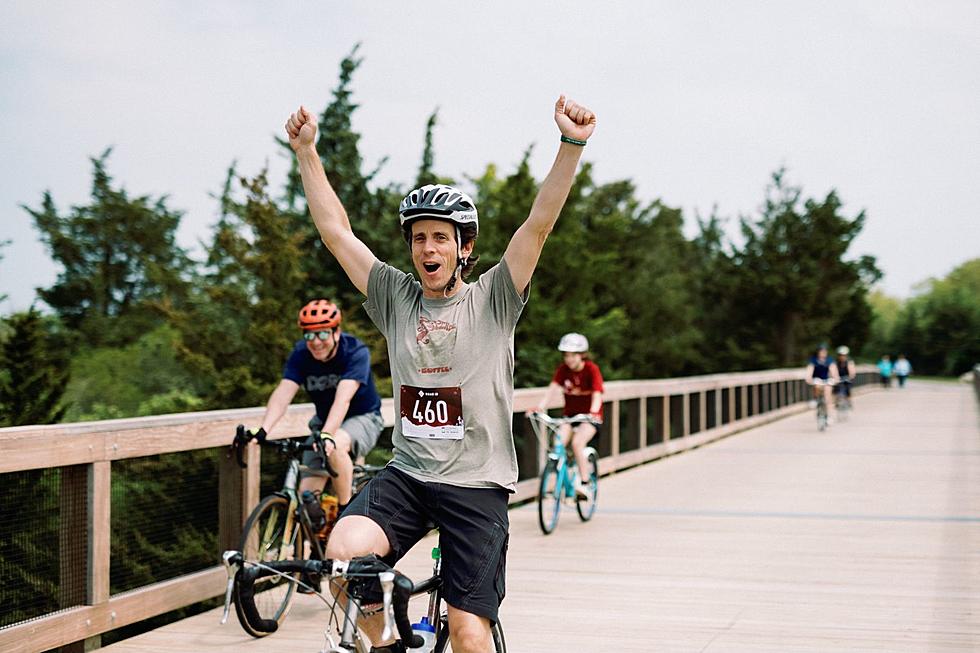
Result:
[[[367,295],[391,362],[391,465],[421,481],[513,491],[514,328],[527,294],[507,263],[429,299],[412,275],[376,261]]]

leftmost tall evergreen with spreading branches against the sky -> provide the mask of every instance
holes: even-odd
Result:
[[[130,198],[106,170],[111,150],[92,159],[92,201],[59,215],[45,192],[41,207],[24,209],[62,271],[39,296],[88,344],[118,344],[159,321],[164,297],[178,300],[189,260],[177,247],[181,214],[166,198]]]

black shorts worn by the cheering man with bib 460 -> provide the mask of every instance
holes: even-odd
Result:
[[[442,596],[449,605],[497,622],[504,600],[510,522],[503,488],[424,483],[386,467],[344,510],[381,526],[394,565],[433,528],[442,550]],[[416,579],[419,580],[419,579]]]

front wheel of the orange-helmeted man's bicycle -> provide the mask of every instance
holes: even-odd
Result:
[[[288,520],[288,516],[289,500],[279,495],[269,495],[255,506],[245,522],[238,545],[246,561],[291,560],[303,555],[303,529],[295,520]],[[291,532],[288,534],[287,521],[292,522]],[[293,574],[292,578],[298,579],[299,574]],[[238,600],[237,585],[235,587],[233,598],[238,623],[252,637],[268,635],[269,633],[257,630],[248,623]],[[282,624],[295,592],[296,584],[282,576],[262,579],[255,587],[255,607],[259,616]]]

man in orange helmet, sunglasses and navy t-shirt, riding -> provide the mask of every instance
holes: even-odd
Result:
[[[352,335],[341,332],[340,309],[325,299],[308,303],[299,312],[303,340],[296,343],[286,360],[282,381],[266,404],[259,440],[271,432],[286,413],[296,392],[303,388],[316,406],[310,430],[321,431],[330,465],[336,470],[334,487],[340,509],[351,499],[354,478],[353,458],[367,454],[378,441],[384,422],[381,398],[371,374],[371,352]],[[303,463],[322,469],[323,458],[307,452]],[[323,477],[307,476],[300,482],[304,490],[322,490]]]

